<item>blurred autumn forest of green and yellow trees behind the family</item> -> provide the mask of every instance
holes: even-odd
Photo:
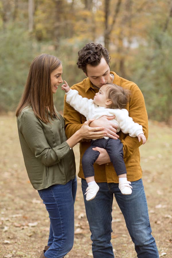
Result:
[[[85,77],[79,49],[95,42],[110,70],[140,87],[149,118],[172,122],[172,0],[0,0],[0,31],[1,113],[15,111],[34,57],[58,56],[71,86]]]

